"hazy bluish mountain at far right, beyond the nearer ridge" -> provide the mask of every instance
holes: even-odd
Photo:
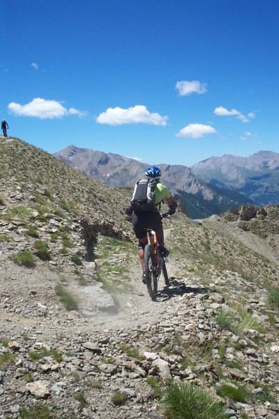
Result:
[[[249,157],[225,154],[191,167],[199,179],[234,189],[260,205],[279,203],[279,154],[261,151]]]

